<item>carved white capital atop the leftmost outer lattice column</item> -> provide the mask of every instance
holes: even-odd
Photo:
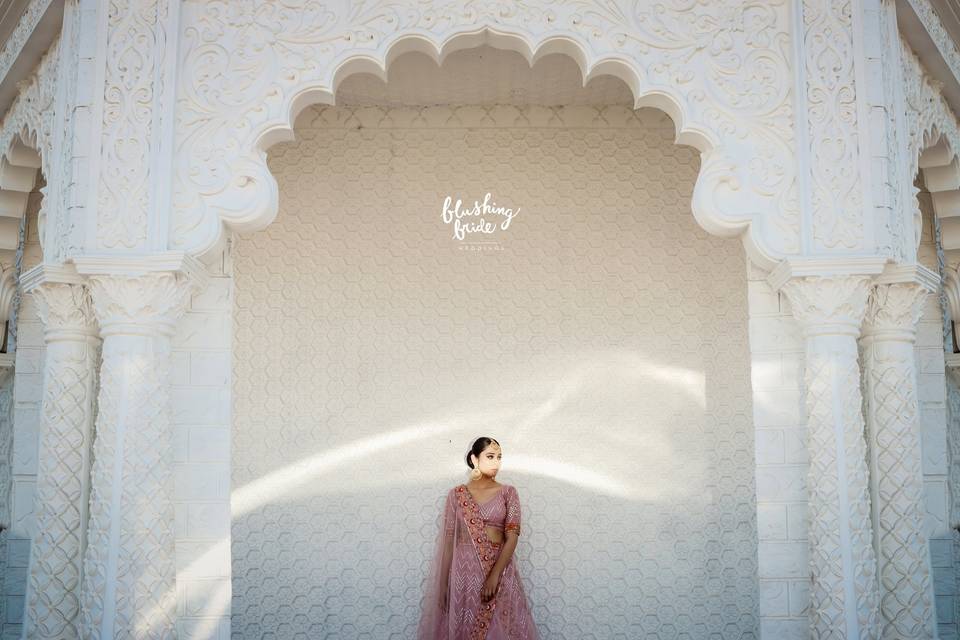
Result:
[[[20,277],[26,293],[37,301],[44,340],[82,340],[97,335],[90,292],[72,265],[39,264]]]

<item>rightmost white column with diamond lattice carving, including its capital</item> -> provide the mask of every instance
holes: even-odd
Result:
[[[887,269],[870,293],[861,340],[881,637],[890,640],[937,637],[914,344],[938,280],[921,266]]]

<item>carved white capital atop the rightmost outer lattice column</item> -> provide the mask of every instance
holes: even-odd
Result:
[[[940,277],[922,265],[887,265],[867,301],[864,340],[913,342],[923,303],[939,283]]]

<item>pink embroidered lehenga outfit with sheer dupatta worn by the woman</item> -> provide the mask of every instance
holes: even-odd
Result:
[[[539,640],[533,624],[516,554],[503,569],[494,597],[481,599],[483,583],[500,556],[485,527],[520,533],[520,496],[503,485],[478,503],[465,485],[447,493],[443,522],[427,573],[419,640]],[[441,593],[447,592],[447,608]]]

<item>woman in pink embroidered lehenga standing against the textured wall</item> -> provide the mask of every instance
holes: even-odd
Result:
[[[467,452],[470,482],[447,492],[423,601],[420,640],[539,639],[513,551],[520,496],[494,478],[500,443],[477,438]]]

